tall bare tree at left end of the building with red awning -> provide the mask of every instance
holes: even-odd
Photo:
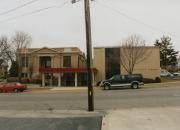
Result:
[[[12,37],[12,44],[14,45],[14,49],[16,50],[16,61],[18,63],[18,79],[21,82],[21,52],[23,52],[26,48],[29,48],[31,45],[31,36],[25,32],[16,32]]]

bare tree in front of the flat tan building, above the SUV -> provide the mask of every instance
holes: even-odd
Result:
[[[137,35],[131,35],[122,43],[120,62],[123,68],[132,74],[136,64],[144,61],[151,51],[147,51],[145,41]]]

